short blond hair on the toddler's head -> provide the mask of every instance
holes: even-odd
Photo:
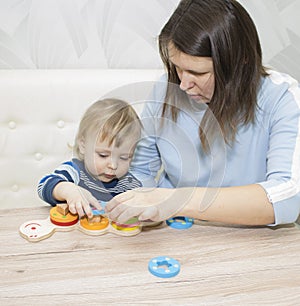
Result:
[[[83,160],[79,143],[89,134],[99,141],[114,143],[117,147],[128,136],[141,134],[142,123],[134,108],[120,99],[103,99],[94,102],[84,113],[78,128],[73,148],[74,155]]]

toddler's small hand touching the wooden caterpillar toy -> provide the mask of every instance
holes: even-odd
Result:
[[[77,213],[79,217],[83,217],[85,214],[89,218],[93,217],[90,205],[98,210],[103,209],[98,200],[88,190],[71,182],[58,183],[53,189],[53,196],[58,201],[65,201],[70,212],[72,214]]]

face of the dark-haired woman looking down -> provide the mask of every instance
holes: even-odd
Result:
[[[180,89],[196,102],[209,103],[215,88],[212,58],[188,55],[172,44],[168,52],[180,79]]]

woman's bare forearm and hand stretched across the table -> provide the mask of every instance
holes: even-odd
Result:
[[[153,221],[189,216],[227,224],[274,223],[272,204],[257,184],[226,188],[136,189],[112,199],[106,211],[112,220],[120,223],[134,216]]]

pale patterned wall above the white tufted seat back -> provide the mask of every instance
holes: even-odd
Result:
[[[156,37],[179,0],[1,0],[0,69],[159,68]],[[240,0],[264,61],[300,80],[300,1]]]

